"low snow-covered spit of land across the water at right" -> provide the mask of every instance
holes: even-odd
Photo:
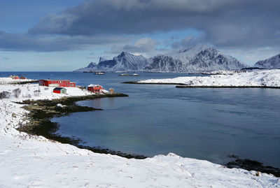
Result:
[[[190,86],[280,87],[280,70],[233,73],[226,75],[186,76],[140,80],[139,83],[182,83]]]

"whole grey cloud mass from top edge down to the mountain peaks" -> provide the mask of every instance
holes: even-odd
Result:
[[[62,13],[45,15],[27,34],[0,31],[0,50],[51,52],[102,46],[111,48],[106,51],[110,53],[148,54],[196,43],[216,48],[273,48],[280,43],[279,7],[279,0],[85,1]],[[200,35],[174,36],[165,47],[152,39],[189,28]],[[132,45],[139,37],[146,38]]]

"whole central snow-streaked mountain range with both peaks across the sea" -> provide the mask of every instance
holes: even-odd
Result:
[[[223,55],[208,45],[195,45],[193,48],[145,58],[122,52],[112,60],[102,57],[98,64],[90,63],[76,71],[159,71],[159,72],[197,72],[237,70],[248,67],[234,57]]]

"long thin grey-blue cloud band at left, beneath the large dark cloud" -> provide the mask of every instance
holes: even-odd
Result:
[[[10,34],[0,31],[0,50],[53,52],[80,50],[118,43],[128,43],[132,38],[124,36],[34,36],[30,34]]]

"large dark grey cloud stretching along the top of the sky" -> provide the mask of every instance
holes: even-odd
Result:
[[[148,34],[195,28],[218,46],[280,43],[279,0],[95,0],[43,17],[30,34]]]

